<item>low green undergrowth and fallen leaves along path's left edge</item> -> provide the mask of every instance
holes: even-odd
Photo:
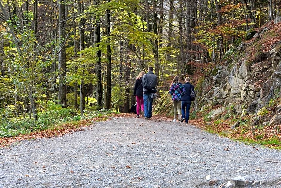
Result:
[[[1,108],[0,112],[2,114],[0,119],[0,138],[15,137],[19,134],[24,135],[43,130],[53,130],[61,127],[63,124],[71,123],[75,125],[81,120],[93,119],[113,113],[113,111],[108,110],[85,110],[83,116],[81,116],[79,111],[63,108],[61,105],[51,101],[38,108],[37,120],[23,116],[10,116],[9,108]]]

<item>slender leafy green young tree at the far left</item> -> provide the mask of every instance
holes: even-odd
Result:
[[[31,13],[26,13],[29,21]],[[53,62],[53,55],[50,47],[54,46],[51,41],[48,44],[40,44],[34,31],[29,25],[20,27],[19,19],[7,21],[13,27],[15,36],[7,35],[6,39],[10,46],[4,47],[2,75],[0,78],[0,96],[5,96],[4,106],[13,104],[14,115],[26,116],[31,113],[30,98],[35,101],[48,92],[50,88],[51,75],[45,72]],[[16,24],[14,24],[16,23]],[[2,82],[3,81],[3,82]],[[3,107],[3,106],[2,106]]]

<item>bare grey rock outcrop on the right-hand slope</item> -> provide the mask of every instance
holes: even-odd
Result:
[[[240,54],[249,53],[244,43],[238,49]],[[220,104],[239,115],[258,113],[262,107],[271,105],[274,112],[266,121],[268,124],[281,124],[281,103],[279,101],[275,106],[271,104],[281,95],[281,41],[268,53],[256,55],[253,61],[240,57],[232,63],[232,68],[227,67],[228,60],[225,65],[213,69],[216,73],[213,76],[213,88],[201,97],[201,102],[213,106]],[[210,112],[209,117],[214,118],[215,114],[221,113],[221,109]],[[262,118],[260,120],[257,123],[263,121]]]

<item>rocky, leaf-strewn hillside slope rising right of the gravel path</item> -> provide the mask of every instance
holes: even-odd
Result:
[[[196,80],[192,123],[229,137],[276,138],[271,145],[280,145],[281,22],[268,22],[248,37],[237,40],[222,63]],[[170,96],[155,103],[156,113],[167,115],[167,109],[172,109]]]

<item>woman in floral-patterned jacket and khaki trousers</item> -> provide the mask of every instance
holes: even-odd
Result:
[[[178,114],[178,120],[181,121],[181,96],[185,94],[185,88],[183,85],[179,82],[178,76],[175,76],[173,79],[169,93],[172,95],[172,101],[174,105],[174,120],[173,122],[176,122],[177,120],[177,114]]]

